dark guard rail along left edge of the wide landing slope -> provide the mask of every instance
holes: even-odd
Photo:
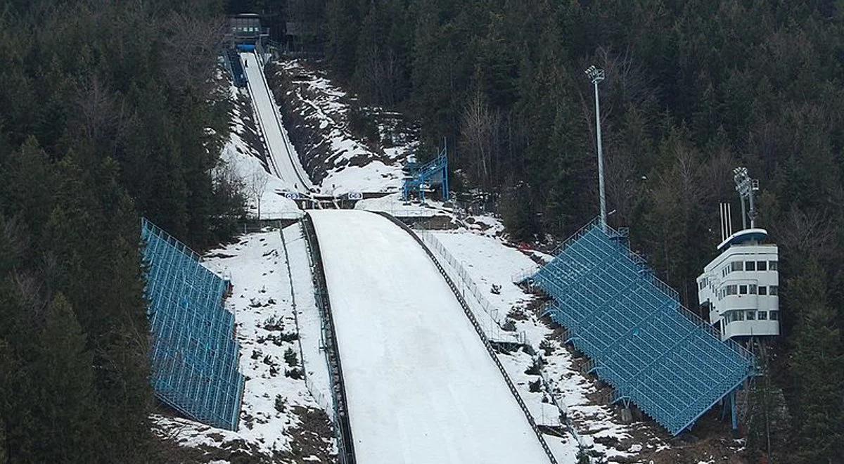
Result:
[[[354,439],[352,438],[351,421],[349,420],[349,402],[344,384],[343,366],[337,348],[337,332],[331,311],[331,299],[328,297],[325,272],[322,268],[322,252],[320,251],[317,232],[314,229],[311,215],[306,213],[301,219],[302,232],[311,258],[311,276],[314,283],[314,297],[320,311],[322,321],[322,343],[324,346],[326,364],[328,365],[333,398],[334,432],[338,446],[338,461],[341,464],[354,464]]]

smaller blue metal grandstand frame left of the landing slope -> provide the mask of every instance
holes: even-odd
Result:
[[[188,418],[236,430],[244,380],[235,316],[223,306],[229,283],[164,230],[142,226],[155,395]]]

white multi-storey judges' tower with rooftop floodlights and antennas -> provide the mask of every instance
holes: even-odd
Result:
[[[737,168],[735,173],[736,190],[742,198],[743,229],[732,233],[730,208],[722,205],[720,254],[697,278],[698,300],[722,340],[776,336],[780,334],[778,249],[765,242],[765,229],[755,227],[758,181],[750,179],[744,168]],[[745,199],[749,200],[749,213],[745,213]]]

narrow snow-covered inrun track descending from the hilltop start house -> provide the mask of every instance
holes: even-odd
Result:
[[[311,179],[299,162],[295,148],[290,144],[281,124],[279,109],[273,101],[263,67],[255,53],[241,53],[249,93],[255,105],[257,118],[264,140],[267,143],[269,169],[285,181],[290,190],[309,192],[313,187]]]

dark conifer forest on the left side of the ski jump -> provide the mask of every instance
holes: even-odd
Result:
[[[150,432],[140,216],[202,248],[240,214],[218,7],[0,6],[0,462],[181,460]]]

